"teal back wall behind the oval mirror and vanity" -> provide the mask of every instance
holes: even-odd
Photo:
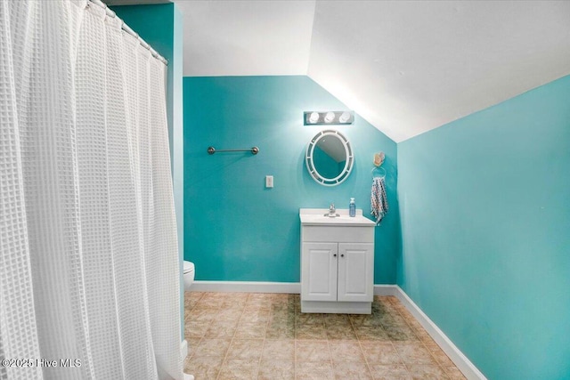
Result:
[[[184,77],[184,258],[196,279],[299,281],[300,207],[348,208],[370,215],[374,153],[387,155],[391,210],[376,229],[375,282],[395,283],[400,250],[396,145],[356,116],[339,125],[354,146],[355,166],[337,187],[314,182],[305,149],[322,126],[303,125],[303,111],[346,109],[308,77]],[[260,149],[216,153],[216,149]],[[274,188],[265,189],[265,175]]]

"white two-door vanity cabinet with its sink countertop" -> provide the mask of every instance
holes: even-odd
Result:
[[[375,223],[326,212],[301,209],[301,311],[370,314]]]

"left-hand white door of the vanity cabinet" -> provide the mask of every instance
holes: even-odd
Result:
[[[337,301],[337,243],[303,243],[301,299]]]

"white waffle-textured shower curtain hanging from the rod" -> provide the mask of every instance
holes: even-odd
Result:
[[[182,378],[164,63],[85,0],[0,53],[0,379]]]

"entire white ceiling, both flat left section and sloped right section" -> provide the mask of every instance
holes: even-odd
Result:
[[[567,1],[189,1],[183,75],[307,75],[394,141],[570,74]]]

